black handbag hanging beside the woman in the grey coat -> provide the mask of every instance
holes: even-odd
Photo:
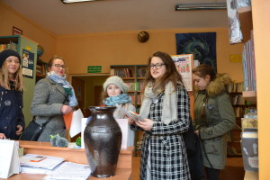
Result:
[[[36,122],[35,116],[33,116],[30,123],[23,131],[21,140],[37,141],[40,138],[42,130],[45,128],[50,119],[51,117],[40,125]]]

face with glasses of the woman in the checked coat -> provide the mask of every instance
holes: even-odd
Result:
[[[150,73],[157,81],[161,79],[166,73],[166,66],[161,58],[153,57],[150,64]]]

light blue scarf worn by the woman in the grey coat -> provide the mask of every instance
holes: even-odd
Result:
[[[65,91],[68,94],[68,100],[69,103],[68,105],[70,107],[74,107],[77,105],[76,101],[76,96],[73,87],[67,82],[66,80],[66,75],[65,76],[58,76],[54,71],[51,71],[47,73],[47,76],[49,77],[50,80],[53,80],[56,82],[58,85],[61,85]]]

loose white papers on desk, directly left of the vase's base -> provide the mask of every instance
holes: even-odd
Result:
[[[76,164],[72,162],[64,162],[49,175],[45,176],[45,180],[86,180],[91,173],[90,167],[87,165]]]

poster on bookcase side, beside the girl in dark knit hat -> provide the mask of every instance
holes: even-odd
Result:
[[[23,49],[23,76],[32,78],[34,69],[34,53]]]

